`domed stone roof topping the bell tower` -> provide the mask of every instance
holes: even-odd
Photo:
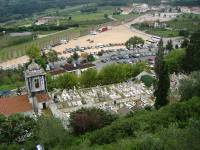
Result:
[[[25,71],[25,77],[40,76],[45,75],[45,71],[40,65],[38,65],[34,60],[31,64],[28,65],[27,70]]]

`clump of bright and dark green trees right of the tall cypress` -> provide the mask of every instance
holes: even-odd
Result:
[[[165,56],[170,73],[191,73],[200,70],[200,31],[195,32],[189,39],[184,39],[181,49],[172,49]]]

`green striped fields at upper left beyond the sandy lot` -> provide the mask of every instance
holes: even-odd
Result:
[[[90,4],[93,5],[93,4]],[[32,37],[0,37],[0,62],[17,58],[25,55],[27,48],[30,45],[36,45],[39,48],[47,47],[48,45],[52,45],[58,43],[61,39],[71,39],[74,37],[78,37],[80,35],[84,35],[88,33],[89,29],[110,21],[109,19],[104,17],[104,14],[112,14],[114,11],[114,7],[100,7],[96,13],[81,13],[80,9],[85,7],[85,5],[75,6],[71,8],[66,8],[63,10],[47,10],[43,13],[37,14],[34,17],[30,17],[27,19],[19,20],[13,23],[4,24],[6,27],[17,27],[24,26],[33,22],[33,18],[36,18],[38,15],[55,15],[57,14],[60,19],[60,24],[69,24],[69,23],[78,23],[80,25],[79,28],[68,29],[62,32],[49,35],[35,41],[32,41]],[[68,17],[71,16],[72,19],[68,20]],[[56,21],[50,22],[50,24],[55,24]],[[40,31],[37,34],[52,34],[57,31]]]

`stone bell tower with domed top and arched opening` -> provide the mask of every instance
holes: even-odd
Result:
[[[29,102],[32,103],[35,113],[38,113],[36,95],[47,92],[46,73],[34,60],[25,71],[25,82],[28,91]]]

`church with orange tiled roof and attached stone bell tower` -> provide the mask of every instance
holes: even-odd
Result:
[[[0,114],[40,115],[48,107],[50,101],[44,70],[32,61],[24,74],[27,94],[0,98]]]

